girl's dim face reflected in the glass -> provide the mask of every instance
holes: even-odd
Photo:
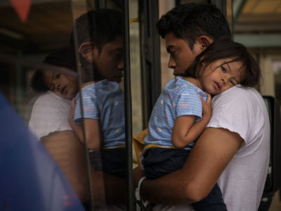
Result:
[[[65,68],[65,70],[68,70]],[[71,70],[68,70],[71,71]],[[65,99],[72,99],[79,91],[77,78],[64,75],[59,72],[44,72],[46,86],[58,96]]]

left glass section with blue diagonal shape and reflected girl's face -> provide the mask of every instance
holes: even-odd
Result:
[[[88,200],[84,148],[68,123],[79,90],[75,51],[65,48],[70,8],[70,1],[0,3],[0,91],[20,116],[1,113],[16,125],[1,127],[0,186],[14,184],[1,188],[8,210],[84,210]]]

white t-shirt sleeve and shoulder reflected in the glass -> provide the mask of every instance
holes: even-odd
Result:
[[[32,108],[29,127],[40,139],[51,132],[72,128],[68,122],[71,101],[48,91],[35,101]]]

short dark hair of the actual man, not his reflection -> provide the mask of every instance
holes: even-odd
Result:
[[[212,39],[230,37],[228,22],[214,4],[181,4],[162,15],[156,26],[162,38],[173,32],[176,37],[188,41],[190,49],[200,35]]]

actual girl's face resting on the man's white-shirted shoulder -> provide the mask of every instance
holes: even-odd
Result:
[[[240,61],[230,62],[231,60],[233,58],[222,58],[204,68],[202,77],[199,78],[202,90],[215,95],[240,84],[244,68]]]

